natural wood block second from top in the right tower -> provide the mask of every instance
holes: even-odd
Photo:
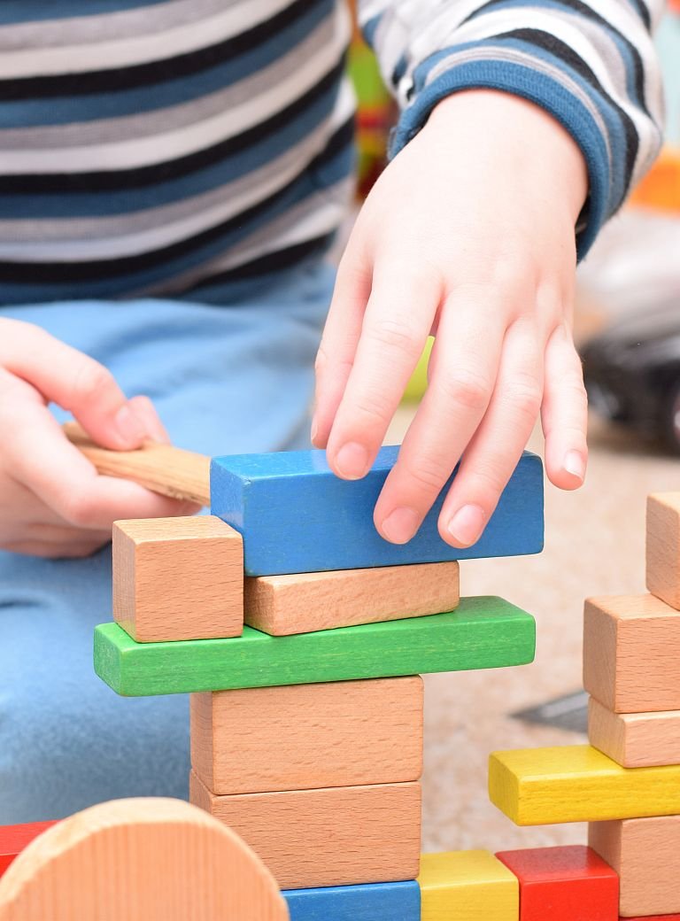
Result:
[[[654,595],[586,601],[583,686],[615,713],[680,710],[680,612]]]

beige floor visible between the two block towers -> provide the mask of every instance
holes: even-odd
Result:
[[[388,437],[403,437],[402,410]],[[541,449],[538,433],[530,448]],[[521,669],[430,675],[426,695],[423,845],[426,851],[583,843],[579,825],[516,828],[487,799],[495,749],[574,744],[583,737],[509,714],[580,688],[584,598],[644,591],[645,497],[680,489],[680,463],[592,420],[587,484],[546,486],[545,552],[461,566],[464,595],[497,594],[531,612],[536,660]]]

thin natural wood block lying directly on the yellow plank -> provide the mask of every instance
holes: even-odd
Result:
[[[588,738],[623,767],[680,764],[680,710],[613,713],[591,697]]]

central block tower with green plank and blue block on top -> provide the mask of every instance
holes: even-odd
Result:
[[[381,540],[395,457],[355,483],[320,451],[216,459],[211,517],[114,530],[117,624],[97,629],[96,669],[121,694],[191,692],[191,799],[262,857],[294,921],[438,918],[442,886],[448,916],[451,873],[460,891],[498,864],[421,869],[420,675],[533,659],[533,618],[461,600],[456,557],[541,550],[541,464],[524,455],[483,540],[457,551],[440,506],[409,544]]]

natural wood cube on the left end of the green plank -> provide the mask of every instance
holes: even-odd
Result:
[[[116,521],[113,618],[138,643],[239,636],[238,531],[212,516]]]

